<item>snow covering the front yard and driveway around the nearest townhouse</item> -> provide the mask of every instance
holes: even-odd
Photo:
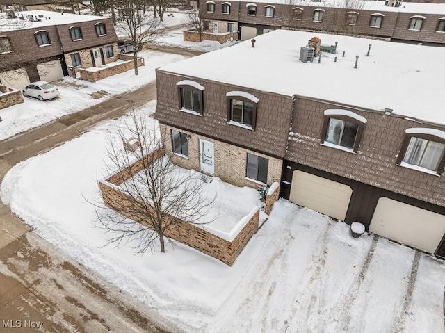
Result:
[[[143,108],[147,121],[155,102]],[[15,165],[1,200],[35,232],[187,332],[444,333],[444,263],[280,200],[234,266],[180,243],[133,254],[95,227],[113,120]],[[417,267],[417,269],[416,269]]]

